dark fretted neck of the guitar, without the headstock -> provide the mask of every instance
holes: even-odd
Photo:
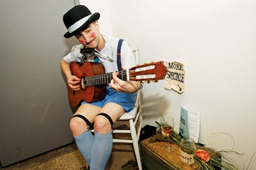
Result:
[[[128,75],[128,77],[129,77],[129,75]],[[118,78],[126,81],[127,80],[127,70],[118,71]],[[90,86],[95,86],[95,85],[108,84],[108,83],[110,83],[110,81],[112,79],[113,79],[113,72],[82,78],[81,83],[82,83],[82,87],[90,87]]]

